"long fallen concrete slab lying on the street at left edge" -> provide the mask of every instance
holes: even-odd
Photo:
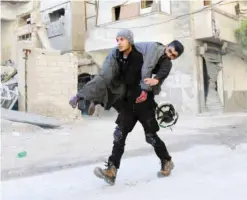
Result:
[[[62,122],[51,117],[1,108],[1,118],[14,122],[28,123],[44,128],[58,128]]]

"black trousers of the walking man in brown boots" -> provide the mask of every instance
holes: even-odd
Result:
[[[139,104],[124,103],[116,121],[119,130],[115,134],[112,154],[108,159],[108,162],[115,165],[117,169],[120,167],[128,133],[133,130],[137,121],[143,126],[146,142],[154,147],[154,151],[160,160],[171,160],[165,143],[157,135],[159,125],[155,118],[156,105],[154,99],[147,99]]]

